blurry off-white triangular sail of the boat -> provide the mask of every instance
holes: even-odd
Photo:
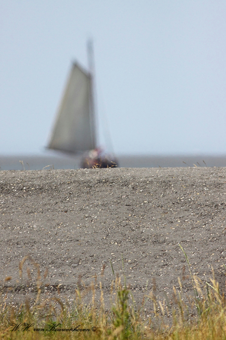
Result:
[[[73,64],[49,149],[76,154],[96,147],[91,81],[89,73]]]

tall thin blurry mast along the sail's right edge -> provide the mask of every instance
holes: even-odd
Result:
[[[92,132],[93,145],[97,147],[98,131],[97,131],[97,114],[95,110],[95,82],[94,82],[94,56],[93,56],[93,41],[89,39],[87,41],[87,56],[88,56],[88,68],[90,75],[90,130]]]

